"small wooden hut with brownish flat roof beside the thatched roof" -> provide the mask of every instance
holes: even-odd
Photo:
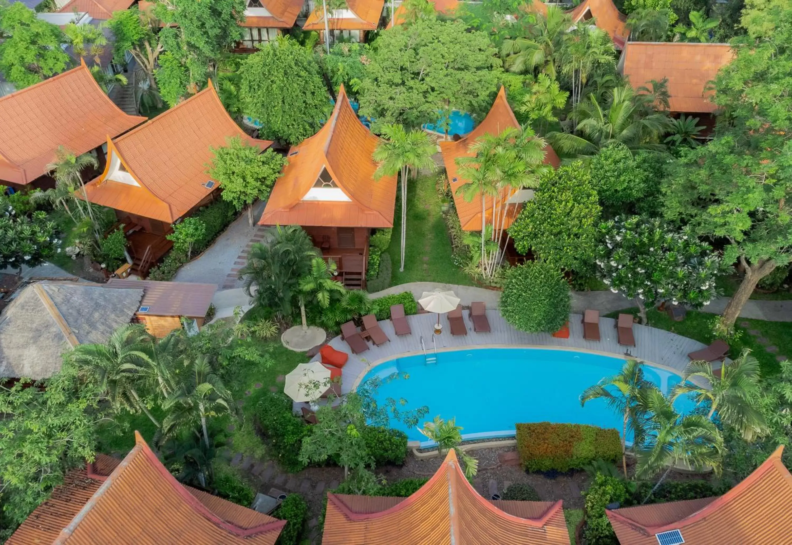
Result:
[[[196,330],[204,326],[204,318],[217,289],[215,284],[120,278],[111,278],[105,287],[142,289],[143,300],[135,311],[133,322],[145,325],[146,330],[158,338],[181,329],[181,318],[188,318]]]

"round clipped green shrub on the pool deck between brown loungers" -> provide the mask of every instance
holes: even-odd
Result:
[[[506,322],[529,333],[553,333],[569,320],[569,284],[554,265],[531,261],[506,273],[500,309]]]

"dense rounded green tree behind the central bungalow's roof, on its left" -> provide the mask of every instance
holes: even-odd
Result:
[[[278,38],[248,55],[239,73],[242,111],[261,121],[261,138],[298,144],[327,119],[330,104],[322,71],[311,51],[295,40]]]

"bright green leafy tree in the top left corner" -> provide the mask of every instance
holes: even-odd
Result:
[[[0,10],[0,72],[17,89],[59,74],[69,66],[60,47],[66,41],[60,29],[36,17],[22,2]]]

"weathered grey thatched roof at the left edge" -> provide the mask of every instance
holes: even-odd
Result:
[[[63,353],[105,342],[140,307],[142,289],[42,281],[26,286],[0,315],[0,377],[46,379]]]

